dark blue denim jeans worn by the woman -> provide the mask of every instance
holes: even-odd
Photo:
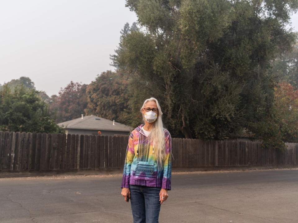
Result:
[[[158,223],[159,187],[129,185],[133,223]]]

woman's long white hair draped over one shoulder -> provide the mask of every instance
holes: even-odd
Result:
[[[154,101],[158,108],[158,116],[150,131],[149,140],[150,142],[153,142],[154,156],[156,157],[157,167],[161,168],[163,166],[163,160],[165,157],[165,133],[164,133],[164,125],[162,123],[162,118],[161,118],[162,112],[157,99],[148,98],[144,101],[141,107],[141,113],[142,113],[142,108],[145,108],[146,103],[149,101]],[[143,122],[145,123],[144,115],[143,115]]]

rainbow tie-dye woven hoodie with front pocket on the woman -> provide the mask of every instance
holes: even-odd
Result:
[[[129,184],[132,184],[171,190],[171,135],[167,129],[164,129],[165,158],[163,168],[158,169],[153,145],[150,145],[142,126],[134,129],[129,136],[121,188],[129,188]]]

